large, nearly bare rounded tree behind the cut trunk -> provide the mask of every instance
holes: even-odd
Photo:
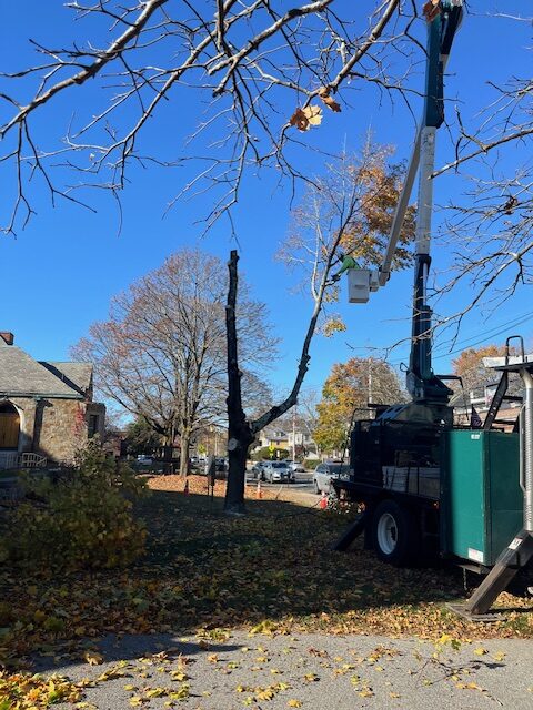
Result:
[[[104,397],[142,418],[163,445],[180,442],[181,474],[197,428],[223,417],[225,291],[218,258],[182,250],[117,296],[109,321],[93,324],[74,348],[94,363]],[[252,373],[275,346],[265,316],[262,304],[244,296],[239,332]]]

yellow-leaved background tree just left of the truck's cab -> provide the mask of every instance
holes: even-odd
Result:
[[[405,402],[405,393],[390,365],[373,357],[352,357],[333,365],[316,405],[319,420],[313,438],[324,452],[346,446],[352,422],[373,418],[372,404]]]

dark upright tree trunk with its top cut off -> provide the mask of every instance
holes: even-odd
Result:
[[[248,448],[253,442],[250,425],[242,408],[241,376],[239,369],[239,353],[237,342],[237,251],[230,254],[228,268],[230,284],[228,304],[225,306],[225,333],[228,339],[228,486],[225,489],[224,510],[230,515],[243,515],[244,487],[247,483]]]

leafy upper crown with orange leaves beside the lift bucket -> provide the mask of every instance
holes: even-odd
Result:
[[[302,291],[311,291],[313,298],[330,254],[335,265],[340,252],[352,255],[361,267],[381,264],[405,171],[403,163],[391,162],[393,153],[392,146],[374,143],[368,134],[360,155],[330,162],[324,174],[308,185],[278,256],[298,273]],[[395,270],[411,263],[414,217],[415,207],[410,205],[393,261]],[[320,325],[322,334],[330,336],[345,329],[332,312],[339,286],[329,283],[324,296]]]

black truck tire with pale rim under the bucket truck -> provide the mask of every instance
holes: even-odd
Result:
[[[419,535],[413,514],[395,500],[382,500],[372,518],[372,544],[383,562],[406,567],[415,561]]]

